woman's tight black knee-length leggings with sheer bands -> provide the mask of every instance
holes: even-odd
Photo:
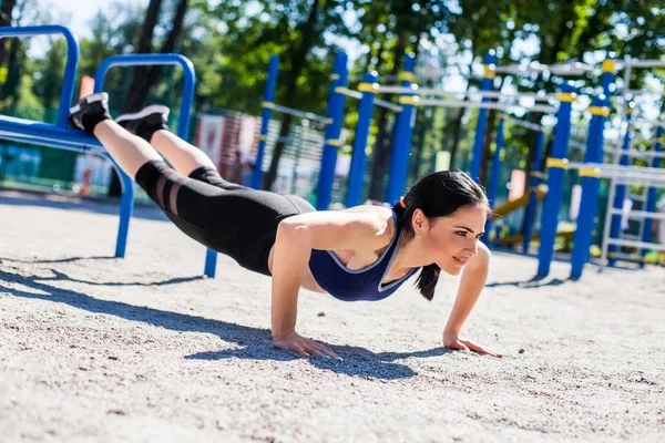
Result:
[[[183,233],[266,276],[279,222],[316,210],[298,196],[226,182],[208,167],[185,177],[151,161],[136,173],[136,183]]]

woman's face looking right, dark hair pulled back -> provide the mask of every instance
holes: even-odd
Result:
[[[427,259],[452,276],[460,274],[467,261],[478,254],[487,215],[483,207],[469,205],[447,217],[429,218],[427,226],[419,227],[415,217],[413,228],[421,230]]]

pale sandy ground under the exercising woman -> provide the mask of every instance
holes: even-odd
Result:
[[[0,192],[0,441],[665,441],[665,270],[495,253],[464,333],[441,348],[457,280],[432,302],[303,291],[298,330],[342,362],[272,347],[269,279],[137,207]]]

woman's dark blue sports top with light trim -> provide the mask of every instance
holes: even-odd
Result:
[[[397,214],[392,213],[396,224],[396,235],[390,245],[374,264],[362,269],[351,270],[346,267],[331,250],[313,249],[309,258],[309,269],[319,286],[332,297],[344,301],[377,301],[391,296],[418,269],[411,269],[402,278],[381,285],[392,259],[399,249],[401,224]]]

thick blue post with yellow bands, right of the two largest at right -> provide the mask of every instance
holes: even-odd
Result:
[[[593,97],[589,112],[592,114],[589,123],[589,137],[586,138],[586,152],[584,163],[603,163],[603,131],[605,121],[610,115],[605,95]],[[601,174],[597,168],[585,167],[580,169],[582,182],[582,199],[580,200],[580,214],[577,215],[577,227],[573,238],[573,256],[571,259],[571,278],[582,277],[584,265],[589,262],[589,249],[593,240],[593,229],[598,209],[598,190],[601,187]]]

